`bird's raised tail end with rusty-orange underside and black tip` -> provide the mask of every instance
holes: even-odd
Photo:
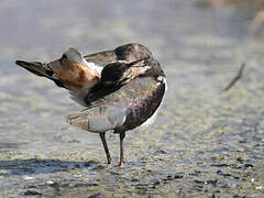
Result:
[[[50,63],[16,61],[16,64],[73,92],[94,87],[100,79],[100,74],[73,47]]]

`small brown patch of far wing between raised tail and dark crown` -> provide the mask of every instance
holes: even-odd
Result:
[[[109,63],[117,62],[117,55],[114,51],[105,51],[95,54],[89,54],[84,56],[84,58],[89,63],[94,63],[98,66],[106,66]]]

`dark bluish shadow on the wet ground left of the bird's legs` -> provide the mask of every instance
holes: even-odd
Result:
[[[0,161],[0,170],[2,170],[0,176],[51,174],[92,166],[98,168],[97,165],[98,163],[95,161],[77,162],[40,158]]]

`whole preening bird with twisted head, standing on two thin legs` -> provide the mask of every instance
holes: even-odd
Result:
[[[161,64],[146,46],[139,43],[85,56],[70,47],[48,63],[15,63],[67,89],[72,99],[85,108],[68,114],[66,121],[76,128],[99,133],[108,164],[111,164],[111,155],[106,132],[118,133],[119,166],[124,162],[125,132],[151,124],[167,90]]]

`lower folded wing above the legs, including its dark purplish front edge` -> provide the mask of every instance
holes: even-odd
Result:
[[[68,122],[92,132],[128,131],[144,123],[155,113],[166,91],[160,63],[151,58],[147,64],[151,68],[146,73],[98,97],[87,111],[69,116]]]

